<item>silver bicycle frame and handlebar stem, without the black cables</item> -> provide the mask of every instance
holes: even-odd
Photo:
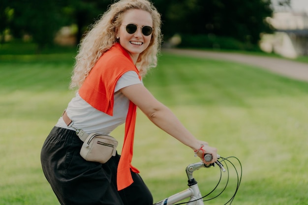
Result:
[[[155,203],[154,205],[173,205],[178,203],[186,198],[189,198],[187,205],[204,205],[202,196],[198,187],[197,181],[193,178],[192,174],[194,171],[199,170],[200,168],[208,168],[214,166],[213,164],[206,166],[203,162],[197,162],[190,164],[186,167],[186,174],[188,177],[188,189],[174,194],[160,202]]]

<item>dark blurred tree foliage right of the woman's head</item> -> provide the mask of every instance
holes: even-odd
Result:
[[[162,0],[154,0],[161,9]],[[164,31],[172,35],[214,34],[256,44],[270,32],[264,19],[272,16],[271,0],[170,0],[163,16]]]

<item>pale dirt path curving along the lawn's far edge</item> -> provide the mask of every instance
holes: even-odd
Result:
[[[245,54],[196,51],[188,49],[163,49],[163,52],[170,52],[177,55],[185,55],[209,59],[224,59],[236,61],[249,65],[255,65],[260,68],[270,70],[282,76],[292,79],[308,82],[308,64],[295,62],[287,59],[278,59],[272,57],[251,56]]]

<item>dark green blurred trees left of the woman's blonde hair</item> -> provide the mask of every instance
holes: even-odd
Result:
[[[2,0],[0,3],[0,33],[10,29],[10,33],[21,38],[29,34],[38,44],[38,51],[52,45],[57,31],[62,26],[76,24],[77,44],[86,27],[103,13],[111,0]],[[12,23],[9,23],[5,9],[12,8]]]

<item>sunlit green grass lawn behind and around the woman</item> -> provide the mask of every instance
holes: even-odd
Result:
[[[0,205],[59,205],[40,167],[40,148],[74,95],[75,53],[0,56]],[[308,205],[308,83],[239,63],[162,54],[144,79],[199,139],[237,156],[243,179],[235,205]],[[123,138],[123,126],[112,133]],[[121,147],[121,145],[120,145]],[[159,201],[187,187],[190,148],[138,112],[133,165]],[[196,172],[202,194],[217,167]],[[223,205],[230,187],[211,205]],[[221,188],[221,187],[219,187]]]

